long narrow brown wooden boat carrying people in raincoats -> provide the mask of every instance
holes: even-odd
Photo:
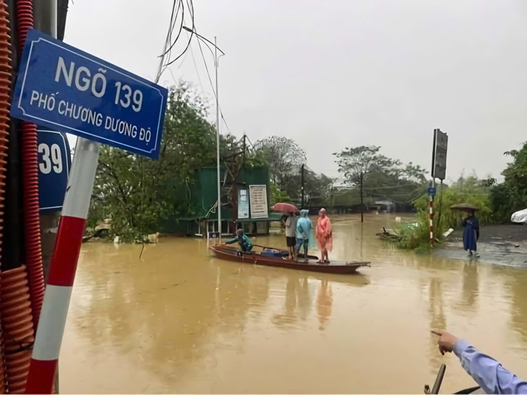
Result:
[[[228,261],[252,263],[256,265],[276,266],[277,268],[307,270],[318,273],[350,274],[370,262],[337,262],[317,263],[317,256],[308,255],[307,259],[300,254],[298,261],[287,258],[287,251],[264,248],[262,251],[241,252],[237,247],[229,245],[213,245],[210,247],[216,256]]]

